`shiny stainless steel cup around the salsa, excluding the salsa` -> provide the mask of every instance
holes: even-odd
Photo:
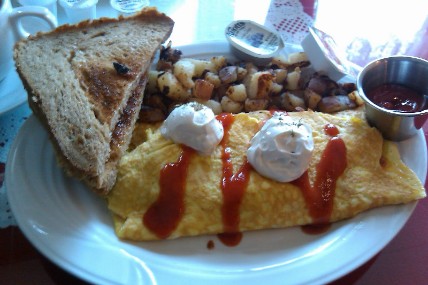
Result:
[[[400,84],[425,98],[425,108],[414,113],[397,112],[373,103],[366,94],[383,84]],[[379,129],[385,139],[401,141],[422,128],[428,118],[428,61],[411,56],[391,56],[375,60],[357,77],[357,89],[365,101],[368,122]]]

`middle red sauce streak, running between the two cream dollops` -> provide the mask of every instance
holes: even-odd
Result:
[[[236,246],[242,239],[242,233],[239,231],[239,208],[248,185],[251,165],[248,161],[245,161],[239,170],[233,174],[230,148],[227,147],[227,143],[229,142],[229,130],[234,117],[232,114],[225,113],[217,116],[217,120],[222,123],[224,129],[223,140],[220,143],[222,146],[221,159],[223,163],[220,188],[223,194],[223,206],[221,210],[224,233],[218,234],[218,238],[226,246]]]

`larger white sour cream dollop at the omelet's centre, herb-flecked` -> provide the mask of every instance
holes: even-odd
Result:
[[[247,159],[261,175],[290,182],[308,169],[313,150],[311,127],[276,112],[251,139]]]

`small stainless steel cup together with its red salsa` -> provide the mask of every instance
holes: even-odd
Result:
[[[428,119],[428,61],[397,55],[367,64],[357,76],[367,121],[385,139],[416,135]]]

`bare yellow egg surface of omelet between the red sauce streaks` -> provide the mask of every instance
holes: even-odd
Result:
[[[234,172],[245,163],[251,138],[269,112],[234,115],[229,131]],[[324,126],[333,124],[346,145],[347,166],[336,183],[330,222],[354,217],[370,208],[407,203],[425,197],[416,175],[401,161],[396,145],[363,119],[362,110],[335,115],[304,111],[289,113],[309,124],[314,152],[308,169],[314,183],[317,164],[330,136]],[[160,171],[176,162],[182,147],[161,136],[158,125],[138,125],[133,138],[136,146],[119,164],[115,187],[108,196],[120,238],[156,240],[159,237],[143,222],[147,209],[158,199]],[[220,187],[223,164],[219,145],[211,156],[192,156],[185,184],[183,215],[167,238],[217,234],[224,231],[223,194]],[[239,230],[282,228],[313,223],[302,189],[280,183],[250,171],[249,182],[239,207]]]

